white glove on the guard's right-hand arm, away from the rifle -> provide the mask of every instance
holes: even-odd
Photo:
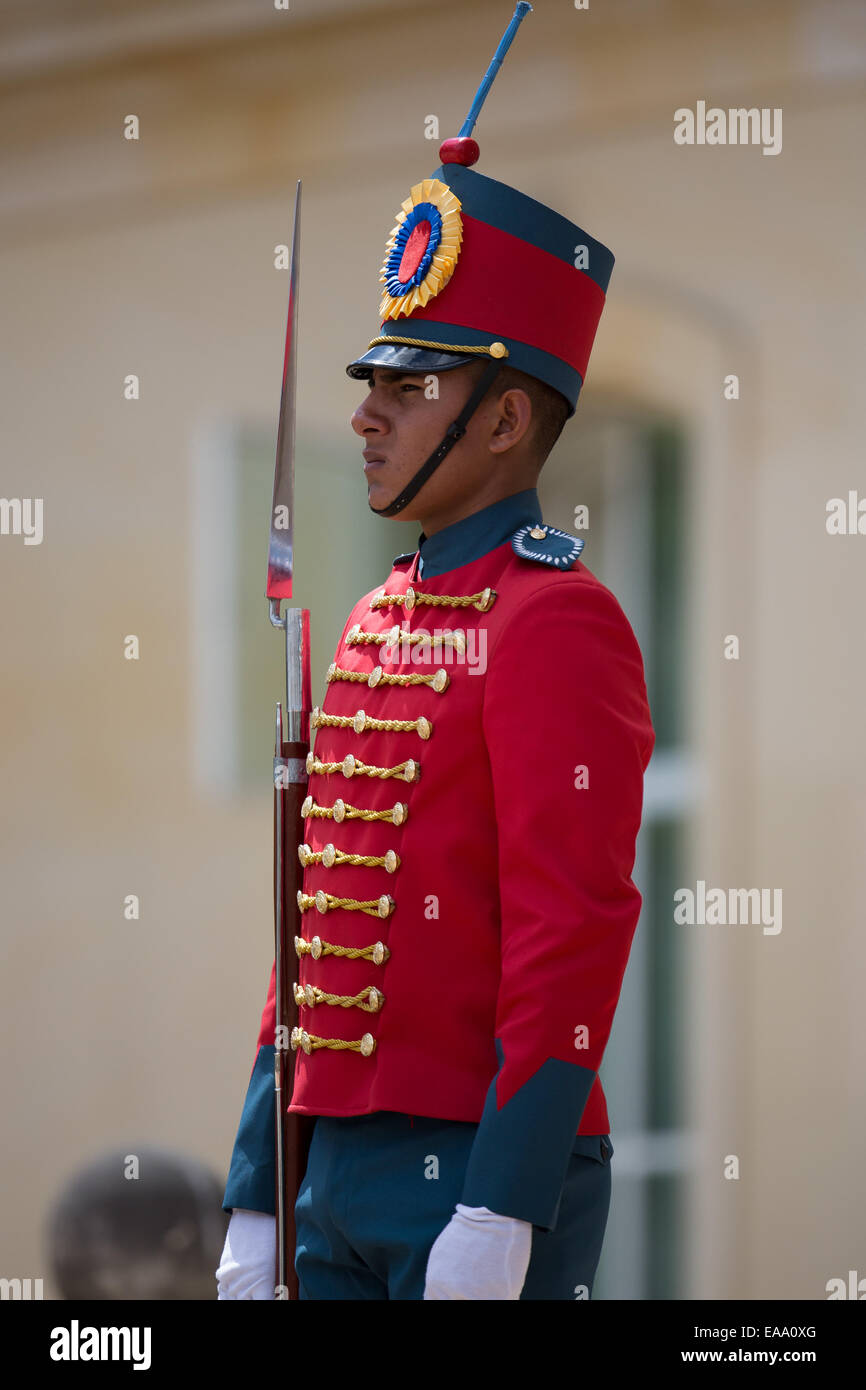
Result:
[[[424,1298],[517,1300],[531,1254],[531,1222],[457,1202],[430,1251]]]

